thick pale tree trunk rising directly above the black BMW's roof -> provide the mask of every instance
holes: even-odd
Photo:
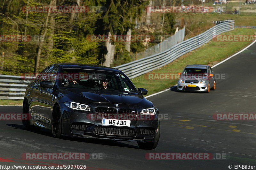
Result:
[[[108,37],[111,36],[111,33],[108,32]],[[112,44],[111,41],[106,41],[105,46],[107,48],[107,54],[104,55],[105,61],[103,63],[103,66],[110,67],[110,65],[114,61],[114,55],[115,55],[115,45]]]

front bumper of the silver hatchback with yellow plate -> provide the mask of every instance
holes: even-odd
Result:
[[[207,83],[178,83],[177,90],[179,91],[196,91],[196,92],[206,92],[208,90]],[[195,87],[189,87],[188,85],[195,85]]]

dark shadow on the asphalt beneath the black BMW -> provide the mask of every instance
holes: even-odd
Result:
[[[20,130],[25,130],[23,129],[22,125],[18,125],[18,124],[6,124],[8,126],[13,127],[14,129],[20,129]],[[43,128],[39,128],[36,126],[32,126],[34,127],[34,129],[29,129],[26,131],[32,132],[32,133],[36,133],[36,134],[40,134],[40,135],[45,135],[48,137],[52,137],[52,132],[51,130],[48,129],[43,129]],[[54,137],[52,137],[54,138]],[[92,143],[92,144],[100,144],[100,145],[108,145],[108,146],[118,146],[118,147],[127,147],[127,148],[135,148],[135,149],[139,149],[139,146],[135,146],[135,145],[131,145],[131,144],[125,144],[121,141],[114,141],[114,140],[108,140],[108,139],[91,139],[91,138],[84,138],[84,137],[69,137],[69,136],[61,136],[61,139],[63,140],[69,140],[69,141],[76,141],[76,142],[85,142],[85,143]],[[127,142],[127,141],[124,141]],[[133,142],[133,141],[131,141]],[[133,142],[133,144],[136,144]]]

